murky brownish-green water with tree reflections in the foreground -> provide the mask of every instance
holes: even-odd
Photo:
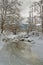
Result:
[[[3,53],[4,58],[9,61],[7,65],[43,65],[43,61],[32,52],[31,43],[28,44],[29,45],[24,42],[13,42],[5,45],[2,49],[4,51],[1,53]]]

